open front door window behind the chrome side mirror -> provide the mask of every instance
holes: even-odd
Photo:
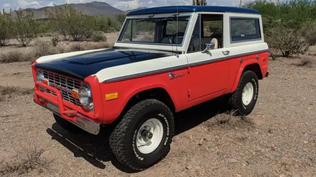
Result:
[[[199,14],[187,53],[204,50],[205,43],[214,43],[212,49],[223,48],[223,15]]]

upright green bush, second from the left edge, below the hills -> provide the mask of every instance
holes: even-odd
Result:
[[[35,20],[35,14],[30,9],[23,12],[16,10],[16,17],[13,18],[12,33],[16,40],[26,47],[38,33],[38,23]]]

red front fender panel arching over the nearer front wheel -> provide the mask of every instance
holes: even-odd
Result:
[[[183,71],[174,71],[175,74],[178,72],[183,73]],[[177,103],[186,102],[186,83],[186,77],[170,81],[170,78],[165,73],[118,82],[100,83],[104,103],[104,123],[109,124],[115,121],[123,111],[127,102],[135,94],[148,89],[164,89],[169,94],[177,111],[179,109]],[[184,87],[179,88],[179,86]],[[105,94],[114,92],[118,92],[118,99],[106,101]]]

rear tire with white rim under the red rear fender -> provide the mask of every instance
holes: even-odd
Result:
[[[259,92],[258,77],[253,71],[244,71],[229,103],[238,115],[248,115],[256,105]]]

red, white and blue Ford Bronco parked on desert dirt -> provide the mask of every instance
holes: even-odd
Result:
[[[32,65],[35,102],[57,123],[98,134],[117,122],[109,142],[125,166],[162,159],[173,115],[228,95],[239,115],[268,76],[260,12],[223,6],[167,6],[127,14],[113,48],[45,56]]]

